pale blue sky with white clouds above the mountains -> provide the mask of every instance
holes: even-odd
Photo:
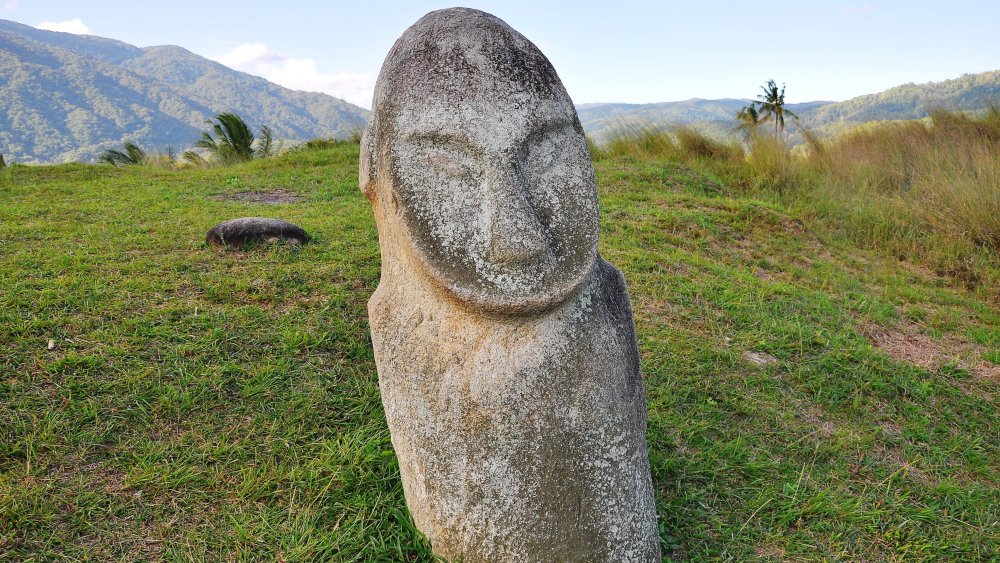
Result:
[[[180,45],[365,108],[393,42],[448,2],[0,0],[0,19]],[[538,45],[580,103],[752,98],[791,103],[1000,69],[1000,0],[473,1]]]

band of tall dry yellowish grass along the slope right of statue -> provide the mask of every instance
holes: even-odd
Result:
[[[1000,108],[979,116],[936,109],[923,120],[803,137],[792,151],[758,129],[744,149],[691,128],[627,126],[592,153],[682,163],[734,194],[779,201],[834,236],[1000,298]]]

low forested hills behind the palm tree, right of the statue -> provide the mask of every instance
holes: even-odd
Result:
[[[789,92],[794,84],[788,85]],[[580,121],[588,134],[601,139],[623,125],[693,125],[726,136],[733,134],[736,113],[750,100],[691,99],[658,104],[583,104]],[[871,121],[919,119],[931,109],[978,111],[1000,105],[1000,71],[966,74],[953,80],[904,84],[844,102],[788,104],[801,124],[819,133],[834,133]],[[794,133],[794,123],[789,123]]]

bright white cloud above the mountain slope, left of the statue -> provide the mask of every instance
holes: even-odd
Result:
[[[209,57],[229,68],[255,74],[293,90],[323,92],[352,104],[371,105],[375,78],[368,73],[325,74],[314,59],[299,59],[272,52],[263,43],[246,43],[224,55]]]

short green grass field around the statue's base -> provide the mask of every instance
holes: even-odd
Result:
[[[0,171],[0,560],[430,559],[379,399],[357,150]],[[596,167],[666,556],[1000,558],[982,284],[708,169]],[[276,190],[299,201],[227,199]],[[205,246],[245,215],[314,240]]]

